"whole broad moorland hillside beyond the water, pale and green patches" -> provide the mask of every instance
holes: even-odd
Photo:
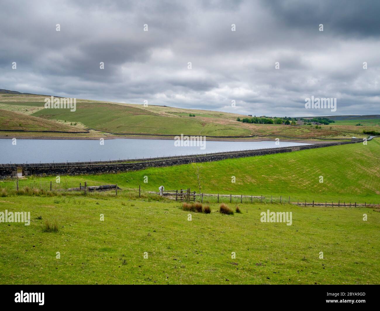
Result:
[[[162,135],[260,136],[294,139],[362,137],[363,129],[378,129],[377,124],[355,126],[353,123],[332,123],[314,126],[249,124],[237,122],[239,114],[155,105],[122,104],[77,99],[77,109],[44,109],[42,95],[0,94],[0,109],[55,120],[80,123],[93,128],[88,137],[108,133],[142,133]],[[195,115],[190,117],[189,114]],[[367,122],[367,120],[366,120]]]

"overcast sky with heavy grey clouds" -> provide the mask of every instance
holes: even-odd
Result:
[[[380,113],[380,1],[111,2],[2,1],[0,88],[253,115]],[[311,96],[337,98],[336,112],[306,109]]]

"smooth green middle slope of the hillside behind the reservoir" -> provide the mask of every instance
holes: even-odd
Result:
[[[89,128],[110,133],[250,135],[238,126],[203,122],[197,117],[165,116],[135,106],[110,103],[78,103],[75,112],[42,109],[33,116],[84,123]],[[237,122],[236,122],[237,123]],[[238,124],[237,124],[238,125]]]

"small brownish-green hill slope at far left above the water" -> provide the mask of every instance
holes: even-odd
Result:
[[[17,129],[28,131],[78,131],[70,126],[70,123],[57,123],[51,120],[25,115],[18,112],[11,112],[0,109],[0,129]]]

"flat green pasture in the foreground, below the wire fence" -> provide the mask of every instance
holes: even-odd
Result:
[[[256,204],[241,205],[241,214],[221,215],[213,204],[210,214],[192,213],[188,221],[189,212],[166,200],[111,195],[0,199],[1,211],[30,211],[30,226],[0,224],[1,284],[380,280],[380,213],[369,208]],[[292,225],[261,223],[260,213],[267,209],[292,212]],[[43,232],[45,220],[56,220],[59,232]]]

